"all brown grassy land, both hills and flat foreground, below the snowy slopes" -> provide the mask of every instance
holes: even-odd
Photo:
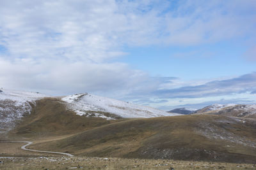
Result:
[[[227,115],[106,120],[42,99],[0,141],[76,155],[0,143],[0,169],[256,169],[256,120]]]

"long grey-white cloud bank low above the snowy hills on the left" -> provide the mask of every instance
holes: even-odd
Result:
[[[59,60],[0,60],[0,82],[5,88],[49,91],[50,94],[77,92],[119,92],[133,89],[148,75],[122,63],[60,62]]]

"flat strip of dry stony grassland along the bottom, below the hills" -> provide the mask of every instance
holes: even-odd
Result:
[[[21,150],[22,145],[24,143],[1,143],[0,169],[256,169],[253,164],[221,162],[61,157]]]

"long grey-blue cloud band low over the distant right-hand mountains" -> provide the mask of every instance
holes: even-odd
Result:
[[[251,73],[228,80],[210,81],[203,85],[156,90],[153,94],[162,98],[194,98],[253,92],[255,89],[256,73]]]

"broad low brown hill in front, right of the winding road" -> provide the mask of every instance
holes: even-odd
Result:
[[[74,155],[256,163],[256,122],[221,115],[127,120],[32,148]]]

